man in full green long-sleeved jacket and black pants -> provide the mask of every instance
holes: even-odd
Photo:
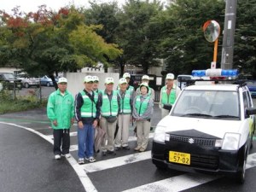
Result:
[[[47,116],[51,122],[54,136],[55,160],[61,155],[69,158],[70,136],[69,130],[74,121],[73,96],[67,91],[67,79],[58,80],[58,90],[49,95]]]

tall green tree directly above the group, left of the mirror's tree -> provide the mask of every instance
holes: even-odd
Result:
[[[157,60],[159,33],[151,22],[161,11],[159,1],[129,0],[125,3],[123,12],[118,15],[119,28],[115,38],[124,50],[124,55],[119,58],[121,66],[131,64],[148,73],[148,67],[160,65]]]

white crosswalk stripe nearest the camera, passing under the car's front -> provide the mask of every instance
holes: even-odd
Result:
[[[247,169],[256,166],[256,154],[249,154],[247,156]],[[185,189],[194,188],[203,183],[211,182],[222,176],[212,176],[201,173],[186,173],[176,177],[169,177],[154,183],[141,185],[137,188],[127,189],[125,192],[153,192],[153,191],[181,191]]]

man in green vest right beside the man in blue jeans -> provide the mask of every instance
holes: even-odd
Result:
[[[114,132],[116,130],[117,118],[120,109],[120,97],[118,90],[113,90],[113,78],[105,79],[105,90],[99,93],[101,106],[100,126],[107,132],[107,136],[102,140],[102,155],[115,154],[114,152]],[[106,140],[108,138],[108,143]]]

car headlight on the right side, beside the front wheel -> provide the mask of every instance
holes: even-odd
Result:
[[[227,132],[224,135],[222,149],[224,150],[237,150],[239,148],[241,135],[238,133]]]

